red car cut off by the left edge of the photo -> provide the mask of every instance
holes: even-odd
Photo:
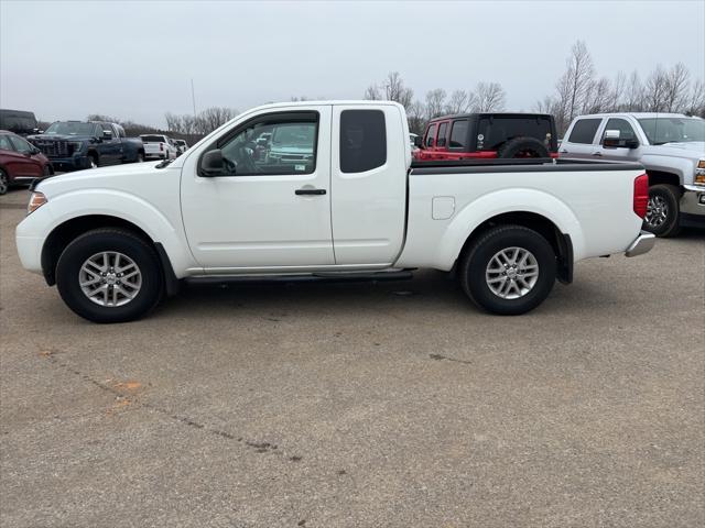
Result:
[[[30,184],[54,174],[42,152],[18,134],[0,130],[0,195],[11,185]]]

